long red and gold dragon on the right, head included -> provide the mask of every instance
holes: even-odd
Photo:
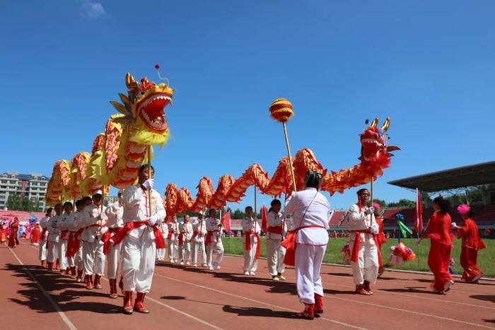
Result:
[[[238,179],[231,175],[223,175],[219,179],[216,190],[209,177],[203,177],[197,186],[197,196],[193,199],[186,188],[177,189],[173,183],[167,185],[165,190],[165,208],[168,216],[185,211],[201,211],[206,208],[222,208],[226,202],[239,202],[245,191],[253,184],[260,189],[262,194],[279,196],[282,193],[291,194],[292,178],[289,162],[292,162],[296,189],[305,187],[305,173],[313,170],[323,174],[321,189],[328,191],[330,195],[335,192],[343,193],[344,190],[371,182],[383,175],[383,170],[390,166],[391,152],[399,150],[397,147],[387,146],[390,119],[385,121],[381,129],[378,129],[378,119],[368,126],[361,136],[361,163],[347,170],[331,171],[322,166],[315,157],[313,151],[304,148],[296,153],[296,157],[289,160],[284,157],[279,161],[274,175],[270,178],[267,172],[259,164],[248,167]]]

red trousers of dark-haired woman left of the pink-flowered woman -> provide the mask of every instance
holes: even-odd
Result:
[[[433,273],[433,288],[443,291],[445,283],[452,279],[448,272],[450,262],[450,245],[439,244],[431,241],[430,253],[428,254],[428,266]]]

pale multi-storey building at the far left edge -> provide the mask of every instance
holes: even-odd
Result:
[[[21,174],[8,171],[0,174],[0,209],[6,209],[8,196],[21,195],[45,210],[48,177],[39,173]]]

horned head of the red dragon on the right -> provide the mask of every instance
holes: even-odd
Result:
[[[395,146],[387,146],[388,135],[386,131],[390,126],[390,118],[387,118],[383,126],[378,129],[378,118],[375,118],[361,136],[361,156],[359,160],[363,163],[375,163],[390,158],[390,152],[400,150]]]

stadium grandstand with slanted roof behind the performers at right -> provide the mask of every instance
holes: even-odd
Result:
[[[450,216],[455,223],[461,224],[462,218],[455,212],[455,207],[459,204],[459,197],[466,194],[469,189],[490,185],[492,189],[482,190],[482,201],[480,204],[472,204],[474,211],[474,220],[480,230],[480,234],[484,237],[494,237],[495,234],[495,161],[481,163],[476,165],[456,167],[450,170],[432,172],[415,177],[407,177],[397,179],[388,184],[397,187],[410,189],[415,191],[419,189],[423,202],[423,219],[424,226],[433,213],[431,208],[431,197],[438,194],[450,196],[453,202],[453,208],[450,211]],[[485,186],[487,187],[487,186]],[[489,186],[488,186],[489,187]],[[404,216],[404,222],[409,228],[414,227],[416,218],[415,208],[385,208],[383,213],[384,230],[388,235],[395,236],[397,228],[397,213]],[[330,230],[336,232],[346,232],[347,227],[347,211],[335,211],[330,218]]]

